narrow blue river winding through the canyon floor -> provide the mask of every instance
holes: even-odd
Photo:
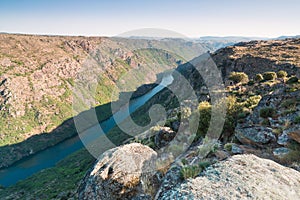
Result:
[[[129,112],[124,109],[119,110],[114,113],[113,116],[100,123],[101,127],[105,127],[104,133],[111,130],[117,123],[123,121],[128,117],[128,114],[136,111],[142,105],[144,105],[148,100],[150,100],[155,94],[164,89],[167,85],[171,84],[173,77],[171,75],[165,76],[162,82],[153,88],[148,93],[140,96],[130,102]],[[98,125],[97,125],[98,126]],[[85,131],[87,137],[93,138],[95,135],[95,127],[91,127]],[[37,173],[43,169],[53,167],[60,160],[64,159],[71,153],[84,148],[79,136],[74,136],[69,138],[53,147],[49,147],[43,151],[40,151],[34,155],[31,155],[25,159],[22,159],[8,168],[0,170],[0,185],[5,187],[13,185],[20,180],[26,179],[27,177]]]

